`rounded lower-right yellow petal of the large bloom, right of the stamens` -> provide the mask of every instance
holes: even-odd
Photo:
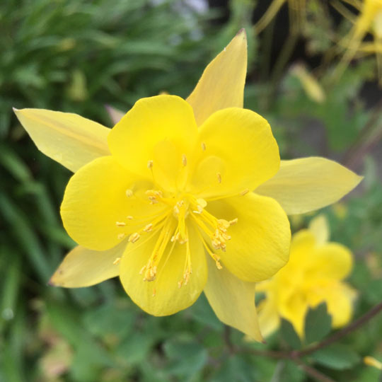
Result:
[[[228,228],[231,240],[221,262],[236,277],[259,282],[273,276],[289,258],[291,231],[287,215],[270,197],[250,193],[210,203],[214,216],[238,222]]]

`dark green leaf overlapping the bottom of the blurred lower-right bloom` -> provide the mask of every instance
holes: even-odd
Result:
[[[309,308],[305,316],[306,345],[322,340],[331,328],[332,317],[328,314],[326,303],[320,303],[316,308]]]

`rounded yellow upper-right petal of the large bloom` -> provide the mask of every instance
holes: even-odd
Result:
[[[192,193],[201,197],[253,190],[279,170],[279,147],[267,120],[251,110],[215,112],[199,129]]]

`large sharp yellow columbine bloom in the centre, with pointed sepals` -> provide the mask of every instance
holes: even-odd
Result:
[[[155,316],[204,291],[220,320],[261,339],[255,282],[288,261],[287,214],[335,202],[361,178],[324,158],[280,163],[270,125],[243,109],[246,66],[241,30],[187,100],[143,98],[112,130],[79,115],[16,110],[37,147],[74,171],[61,215],[79,246],[51,284],[119,276]]]

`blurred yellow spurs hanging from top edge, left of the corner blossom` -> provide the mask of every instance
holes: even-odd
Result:
[[[255,30],[260,33],[277,15],[279,9],[287,3],[289,6],[289,25],[292,33],[301,30],[306,21],[306,0],[273,0],[264,15],[257,21]]]

